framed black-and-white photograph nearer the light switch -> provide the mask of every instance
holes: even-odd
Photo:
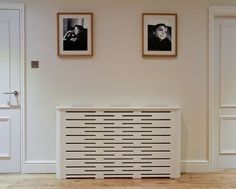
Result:
[[[93,14],[57,13],[58,56],[93,55]]]

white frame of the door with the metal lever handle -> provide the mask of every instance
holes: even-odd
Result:
[[[24,152],[25,152],[25,8],[24,4],[15,3],[0,3],[2,10],[18,10],[20,21],[20,172],[23,171],[24,165]]]

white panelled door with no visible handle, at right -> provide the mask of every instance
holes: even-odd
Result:
[[[236,17],[215,17],[213,169],[236,168]]]

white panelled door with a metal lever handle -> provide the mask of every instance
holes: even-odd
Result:
[[[0,6],[0,173],[20,172],[20,12]]]

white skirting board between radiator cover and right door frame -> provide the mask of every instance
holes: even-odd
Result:
[[[182,173],[208,173],[210,172],[208,160],[183,160],[181,161]]]

